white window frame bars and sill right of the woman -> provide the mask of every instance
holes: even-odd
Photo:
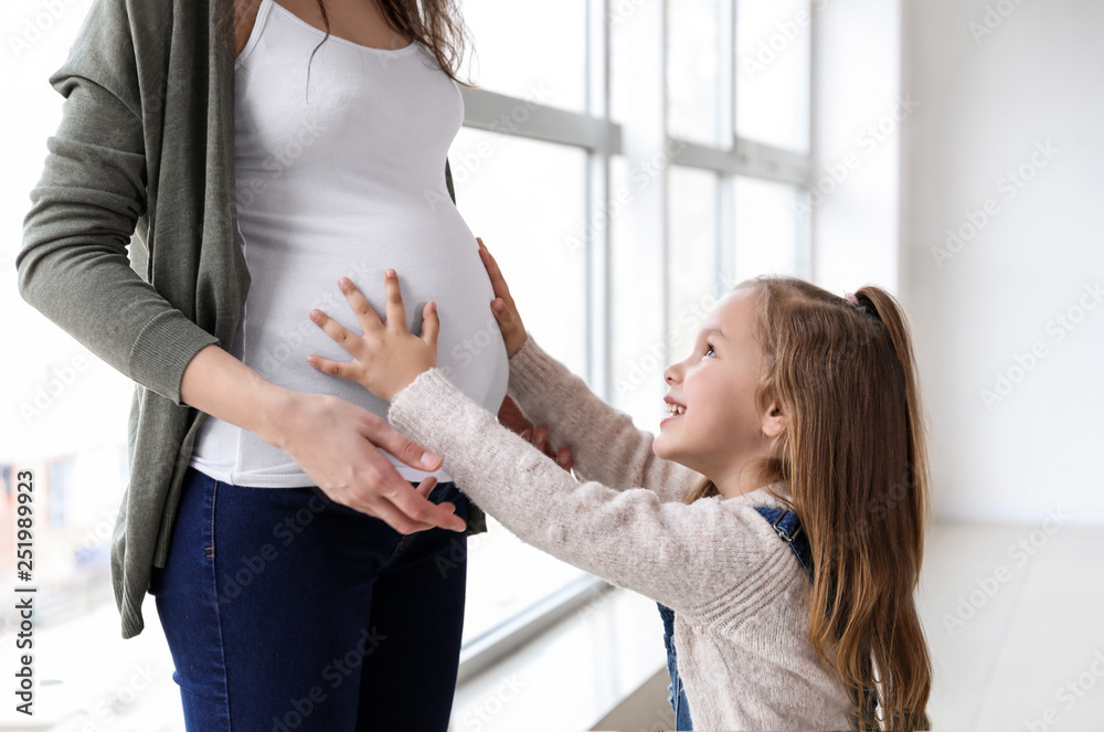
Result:
[[[712,171],[718,176],[716,198],[716,262],[718,277],[714,278],[718,290],[721,283],[732,282],[735,272],[735,216],[733,188],[737,177],[775,181],[807,190],[813,172],[815,155],[814,100],[816,99],[816,77],[813,74],[811,59],[815,57],[810,47],[809,59],[809,150],[800,152],[772,145],[765,145],[735,134],[735,103],[737,94],[736,49],[735,49],[735,2],[739,0],[720,0],[720,49],[719,65],[721,68],[721,98],[719,99],[718,125],[725,134],[721,137],[731,138],[728,146],[708,146],[675,137],[668,130],[669,98],[667,93],[667,18],[671,0],[659,0],[655,3],[641,3],[634,0],[630,6],[633,21],[639,26],[635,36],[654,41],[657,53],[644,61],[641,73],[652,73],[656,76],[655,87],[658,93],[649,100],[654,106],[654,116],[628,127],[614,121],[611,109],[611,19],[615,15],[615,0],[587,0],[586,6],[586,110],[571,112],[541,105],[531,99],[499,94],[487,89],[471,89],[461,86],[464,97],[464,126],[473,129],[508,134],[517,137],[553,142],[586,151],[585,181],[585,221],[592,221],[596,211],[608,210],[609,205],[609,167],[613,156],[625,156],[629,162],[651,158],[657,150],[678,149],[677,155],[664,158],[662,170],[657,184],[648,192],[654,203],[658,205],[640,206],[634,215],[646,211],[648,221],[644,222],[641,231],[651,232],[651,241],[643,243],[645,254],[651,254],[655,261],[648,276],[654,280],[650,285],[661,293],[661,301],[657,304],[651,317],[661,323],[660,332],[667,332],[667,307],[670,293],[667,278],[664,276],[667,253],[670,246],[668,226],[668,184],[667,173],[671,165]],[[624,8],[624,3],[620,3]],[[816,39],[816,13],[810,9],[810,35]],[[810,41],[810,44],[814,41]],[[505,130],[501,124],[514,110],[524,108],[528,115],[523,123],[510,126]],[[517,120],[514,120],[517,121]],[[636,127],[639,125],[639,129]],[[586,373],[585,379],[594,392],[609,399],[612,393],[613,373],[611,369],[612,329],[612,283],[609,268],[611,226],[585,226],[584,246],[586,251]],[[808,277],[813,262],[814,226],[808,226],[809,234],[804,241],[796,243],[799,275]],[[800,230],[799,230],[800,231]],[[716,291],[714,295],[720,296]],[[645,314],[644,317],[648,317]],[[665,346],[666,349],[666,346]],[[666,353],[668,360],[671,354]],[[499,625],[473,638],[460,651],[459,680],[467,679],[491,666],[495,661],[524,645],[544,629],[551,627],[572,613],[576,607],[591,602],[597,595],[612,588],[606,582],[594,576],[575,580],[529,608],[511,616]]]

